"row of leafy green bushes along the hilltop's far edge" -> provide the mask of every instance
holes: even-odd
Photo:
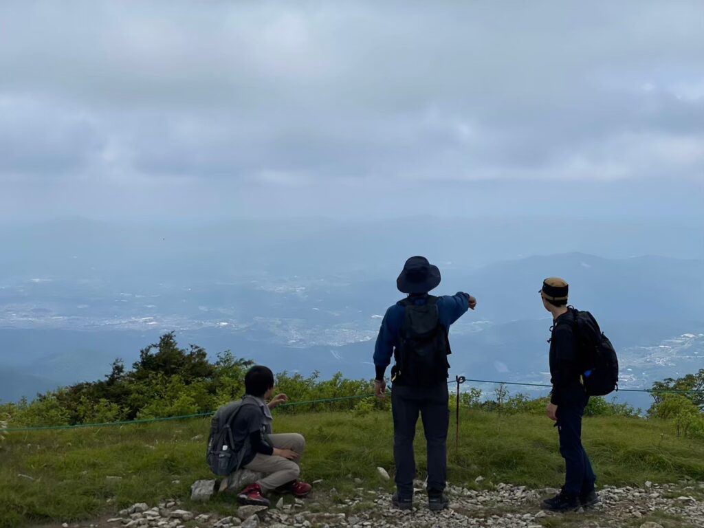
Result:
[[[203,348],[180,348],[170,332],[143,348],[130,370],[118,358],[105,379],[49,391],[31,403],[26,399],[6,403],[0,406],[0,417],[11,416],[11,427],[37,427],[209,413],[244,394],[244,375],[252,364],[251,360],[235,358],[230,351],[218,354],[210,363]],[[655,403],[648,416],[672,421],[678,436],[704,436],[700,413],[704,396],[692,392],[700,391],[703,384],[704,369],[696,375],[656,383]],[[363,416],[372,410],[387,410],[391,404],[390,397],[370,397],[372,380],[346,379],[341,372],[330,379],[320,379],[320,372],[308,376],[281,372],[276,376],[276,388],[289,396],[289,405],[279,407],[279,412],[286,414],[339,410]],[[673,389],[689,392],[661,392]],[[494,400],[484,398],[482,390],[470,387],[460,393],[460,406],[508,415],[542,415],[549,401],[510,394],[504,384],[494,389],[494,396]],[[454,391],[450,398],[454,408]],[[640,410],[615,400],[591,398],[584,414],[636,417]]]

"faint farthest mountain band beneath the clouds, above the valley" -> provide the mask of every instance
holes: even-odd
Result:
[[[121,287],[149,287],[199,279],[238,282],[243,277],[368,277],[379,272],[386,277],[415,254],[429,256],[443,269],[465,270],[572,252],[703,259],[703,225],[704,217],[668,222],[503,214],[367,222],[242,219],[188,226],[63,218],[0,225],[0,285],[27,278],[99,279]]]

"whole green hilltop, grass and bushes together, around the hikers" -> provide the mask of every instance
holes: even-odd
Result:
[[[0,528],[91,520],[167,498],[179,498],[192,510],[232,513],[232,498],[189,503],[191,484],[213,478],[205,463],[208,417],[63,427],[207,413],[243,394],[249,365],[227,352],[211,363],[203,348],[180,348],[169,333],[144,348],[131,369],[115,360],[105,379],[1,404]],[[301,432],[308,439],[304,477],[324,481],[316,486],[316,501],[353,493],[355,479],[367,488],[391,490],[376,470],[382,466],[393,473],[390,398],[367,397],[371,380],[282,372],[277,389],[294,404],[275,410],[275,431]],[[654,393],[647,420],[627,405],[591,399],[584,443],[599,484],[704,481],[704,369],[653,389],[697,392]],[[510,395],[503,385],[495,394],[495,401],[476,388],[461,395],[458,451],[454,425],[449,441],[451,484],[476,487],[474,479],[481,475],[482,486],[560,486],[563,462],[557,431],[544,415],[546,399]],[[46,426],[61,428],[2,432],[2,427]],[[425,477],[420,427],[418,471]]]

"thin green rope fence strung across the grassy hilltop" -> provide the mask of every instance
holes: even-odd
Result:
[[[552,389],[552,385],[541,384],[541,383],[524,383],[524,382],[501,382],[491,379],[470,379],[464,376],[455,377],[448,382],[448,385],[457,384],[458,394],[460,394],[460,386],[470,382],[470,383],[482,383],[482,384],[495,384],[495,385],[517,385],[517,386],[532,386],[540,387],[545,389]],[[617,389],[617,392],[641,392],[647,394],[699,394],[704,393],[704,390],[677,390],[677,389]],[[332,403],[337,401],[347,401],[356,400],[362,398],[370,398],[374,394],[355,394],[353,396],[339,396],[336,398],[319,398],[315,400],[306,401],[294,401],[290,403],[281,403],[278,407],[296,407],[305,405],[314,405],[316,403]],[[459,401],[459,398],[458,398]],[[208,411],[207,413],[195,413],[190,415],[180,415],[180,416],[167,416],[159,418],[145,418],[144,420],[125,420],[121,422],[102,422],[93,424],[75,424],[75,425],[46,425],[40,427],[10,427],[8,429],[1,429],[3,433],[17,433],[17,432],[31,432],[31,431],[51,431],[58,429],[82,429],[84,427],[115,427],[121,425],[137,425],[137,424],[149,424],[154,422],[169,422],[173,420],[187,420],[189,418],[199,418],[211,416],[215,413],[214,410]]]

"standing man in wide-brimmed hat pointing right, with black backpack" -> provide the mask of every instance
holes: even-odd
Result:
[[[477,300],[458,292],[453,296],[431,296],[440,284],[440,270],[422,256],[406,260],[396,287],[408,296],[386,310],[374,351],[375,392],[384,397],[386,367],[391,369],[391,410],[394,417],[394,461],[396,508],[413,508],[415,456],[413,438],[420,413],[427,441],[428,505],[442,510],[448,500],[446,486],[446,440],[450,421],[448,408],[447,355],[451,353],[448,329]]]

